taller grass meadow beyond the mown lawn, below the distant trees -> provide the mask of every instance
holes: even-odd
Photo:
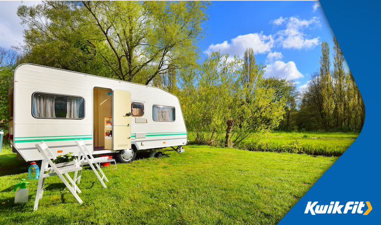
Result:
[[[238,147],[252,151],[307,153],[312,155],[340,156],[353,143],[358,132],[271,132],[258,138],[242,141]],[[225,134],[220,134],[223,139]],[[189,132],[189,140],[196,134]],[[223,141],[220,141],[223,143]]]

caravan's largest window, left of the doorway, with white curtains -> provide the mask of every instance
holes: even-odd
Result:
[[[36,118],[82,119],[85,100],[83,97],[34,93],[32,114]]]

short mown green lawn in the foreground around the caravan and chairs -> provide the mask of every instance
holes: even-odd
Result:
[[[13,203],[28,164],[0,153],[0,224],[276,224],[337,157],[188,145],[161,158],[104,167],[103,188],[84,169],[79,204],[57,177],[46,180],[33,211]]]

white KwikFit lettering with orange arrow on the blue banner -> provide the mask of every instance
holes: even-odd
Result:
[[[345,207],[343,204],[340,204],[340,201],[336,201],[336,202],[331,201],[330,204],[326,204],[326,205],[319,205],[317,203],[318,203],[318,201],[314,201],[313,203],[312,203],[312,201],[308,201],[307,207],[306,207],[306,210],[304,211],[304,213],[307,214],[308,212],[311,212],[312,215],[324,214],[324,213],[328,213],[328,214],[330,214],[330,213],[332,213],[332,214],[344,213],[344,214],[346,214],[348,211],[350,211],[351,213],[362,214],[363,213],[362,208],[365,206],[363,201],[360,201],[360,202],[348,201],[348,202],[346,202]],[[368,206],[368,209],[363,213],[363,215],[367,215],[372,210],[372,206],[370,205],[369,201],[366,201],[366,205]],[[314,207],[315,207],[315,209],[314,209]],[[342,207],[344,207],[344,210],[341,212]]]

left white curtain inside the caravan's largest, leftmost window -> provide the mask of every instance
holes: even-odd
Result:
[[[36,117],[54,118],[55,112],[55,96],[49,94],[33,95],[34,107],[33,114]]]

